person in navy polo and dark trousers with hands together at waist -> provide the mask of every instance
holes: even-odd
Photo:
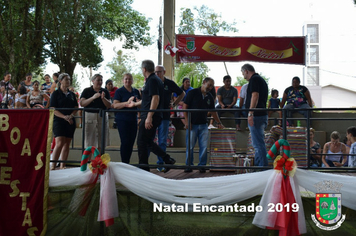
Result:
[[[114,96],[113,109],[117,110],[135,110],[137,107],[128,107],[130,102],[139,102],[141,99],[140,92],[132,87],[132,74],[126,73],[123,78],[123,86],[116,90]],[[137,112],[116,112],[115,121],[119,131],[121,145],[121,161],[129,164],[132,154],[133,145],[137,135]]]

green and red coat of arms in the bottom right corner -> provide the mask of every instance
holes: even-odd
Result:
[[[339,228],[346,218],[341,214],[341,193],[317,193],[315,213],[311,215],[312,220],[320,229],[330,231]]]

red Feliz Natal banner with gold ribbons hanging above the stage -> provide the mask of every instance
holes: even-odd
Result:
[[[176,35],[177,62],[257,61],[305,65],[305,37]]]

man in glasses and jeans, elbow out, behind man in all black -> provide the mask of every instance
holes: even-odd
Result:
[[[163,109],[170,109],[171,107],[175,107],[185,95],[185,92],[178,87],[178,85],[164,75],[166,70],[164,66],[159,65],[156,66],[155,74],[161,79],[163,82],[164,96],[163,96]],[[176,93],[178,95],[177,99],[173,104],[172,101],[172,93]],[[163,112],[163,118],[161,124],[158,126],[158,146],[166,151],[167,148],[167,137],[168,137],[168,128],[169,128],[169,120],[170,120],[170,112]],[[160,156],[157,156],[157,164],[162,165],[163,159]],[[164,172],[166,169],[164,167],[158,167],[157,170],[159,172]]]

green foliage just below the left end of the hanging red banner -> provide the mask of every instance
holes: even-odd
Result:
[[[201,86],[208,72],[209,68],[204,63],[180,63],[175,65],[174,80],[178,86],[181,86],[183,79],[188,77],[190,85],[197,88]]]

